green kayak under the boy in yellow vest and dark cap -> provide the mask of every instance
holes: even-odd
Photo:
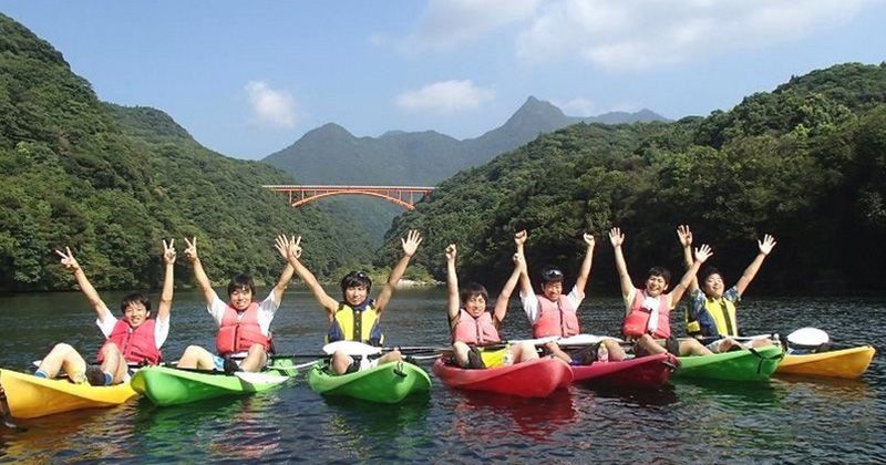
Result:
[[[340,395],[393,404],[412,393],[431,390],[431,379],[419,366],[406,362],[385,363],[356,373],[334,375],[328,366],[315,366],[308,384],[323,395]]]

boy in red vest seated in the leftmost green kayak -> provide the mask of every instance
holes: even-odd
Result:
[[[187,242],[185,257],[194,266],[194,276],[206,301],[206,310],[218,324],[215,340],[218,355],[199,345],[189,345],[178,360],[178,368],[225,372],[261,371],[268,363],[268,353],[272,352],[270,322],[280,307],[286,287],[292,279],[292,266],[287,261],[277,285],[261,302],[253,300],[256,293],[253,278],[243,273],[235,276],[228,283],[228,303],[225,303],[218,298],[209,277],[203,269],[197,256],[197,238],[189,241],[185,239],[185,242]],[[286,236],[277,236],[274,247],[285,260],[288,246]],[[234,359],[240,358],[243,361],[238,366]]]

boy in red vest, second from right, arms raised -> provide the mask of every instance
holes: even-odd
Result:
[[[637,341],[639,353],[664,353],[673,355],[709,355],[712,352],[694,339],[678,341],[671,335],[670,312],[683,297],[701,264],[711,257],[711,248],[702,245],[696,249],[696,261],[689,267],[680,282],[669,293],[671,273],[662,267],[652,267],[646,279],[645,289],[637,289],[630,280],[628,265],[621,251],[625,235],[619,228],[609,231],[609,241],[616,255],[616,269],[621,281],[621,297],[625,299],[625,322],[621,332],[626,338]]]

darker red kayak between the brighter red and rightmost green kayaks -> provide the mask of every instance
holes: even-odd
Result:
[[[571,366],[573,381],[616,388],[658,388],[668,381],[680,364],[669,353],[640,356],[620,362],[594,362]]]

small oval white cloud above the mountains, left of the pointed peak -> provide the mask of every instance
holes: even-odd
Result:
[[[495,92],[477,87],[471,80],[442,81],[427,84],[418,91],[405,91],[396,96],[396,106],[405,111],[430,110],[452,113],[476,108],[491,101]]]

